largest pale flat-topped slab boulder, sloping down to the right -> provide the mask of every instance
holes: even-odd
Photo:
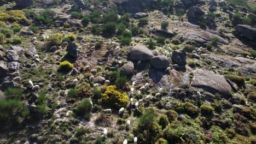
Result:
[[[195,69],[192,86],[202,88],[207,92],[228,95],[232,88],[223,75],[213,73],[212,71]]]

